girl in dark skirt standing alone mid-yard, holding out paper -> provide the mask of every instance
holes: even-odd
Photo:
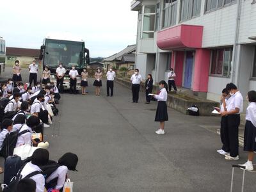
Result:
[[[164,134],[164,122],[168,121],[168,112],[166,104],[166,100],[168,98],[166,90],[167,83],[165,81],[160,81],[159,88],[159,93],[157,95],[154,94],[154,97],[158,101],[155,122],[160,122],[160,129],[156,131],[156,134]]]

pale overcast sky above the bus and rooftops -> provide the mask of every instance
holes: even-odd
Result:
[[[40,49],[48,33],[68,31],[92,57],[107,57],[136,44],[138,13],[130,8],[131,0],[1,0],[0,36],[8,47]]]

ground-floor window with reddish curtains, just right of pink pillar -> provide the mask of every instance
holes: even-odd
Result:
[[[211,74],[230,76],[232,48],[214,49],[211,52]]]

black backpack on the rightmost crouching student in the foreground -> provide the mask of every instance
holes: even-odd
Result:
[[[51,161],[49,160],[49,163],[44,165],[44,166],[40,166],[40,169],[42,170],[42,174],[45,177],[45,180],[51,176],[51,174],[53,172],[55,172],[61,165],[56,163],[55,161]],[[45,183],[45,188],[46,189],[54,189],[56,187],[56,185],[58,184],[58,177],[50,180],[50,182]]]

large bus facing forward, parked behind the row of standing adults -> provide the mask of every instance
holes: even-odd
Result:
[[[76,65],[79,73],[77,77],[77,90],[81,89],[81,72],[90,63],[90,52],[84,46],[84,40],[69,34],[50,34],[44,38],[39,59],[42,66],[48,65],[51,70],[51,81],[56,83],[56,69],[59,63],[67,70],[64,76],[63,89],[70,88],[68,73],[72,65]]]

